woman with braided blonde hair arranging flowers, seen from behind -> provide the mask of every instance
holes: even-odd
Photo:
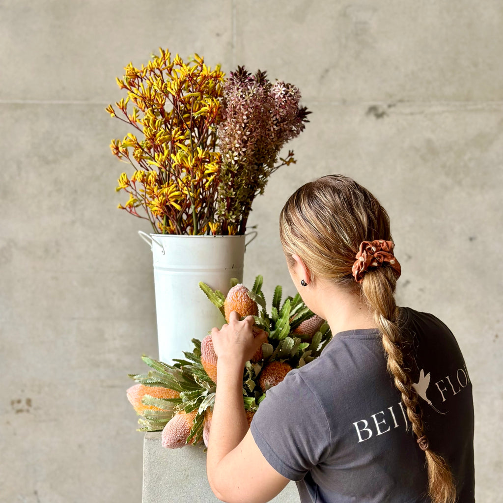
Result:
[[[327,176],[290,197],[280,236],[292,281],[334,336],[267,392],[248,430],[242,372],[266,336],[235,312],[213,329],[216,496],[268,501],[295,480],[302,502],[473,502],[471,382],[450,330],[395,304],[386,211],[353,180]]]

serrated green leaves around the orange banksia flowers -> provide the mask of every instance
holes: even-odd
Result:
[[[272,361],[288,363],[292,368],[302,367],[317,358],[331,338],[327,323],[324,323],[312,337],[294,333],[300,323],[313,316],[300,295],[286,297],[281,305],[282,287],[274,290],[271,314],[266,311],[266,301],[262,292],[263,277],[257,276],[250,298],[262,306],[261,316],[255,316],[255,323],[268,333],[268,342],[262,345],[263,357],[258,362],[246,362],[243,370],[243,404],[249,411],[256,411],[265,393],[259,385],[262,369]],[[237,280],[231,280],[231,287]],[[219,290],[212,290],[200,283],[201,290],[221,312],[225,296]],[[201,363],[201,342],[193,339],[194,347],[184,352],[184,359],[176,359],[168,365],[143,356],[143,361],[152,369],[148,374],[129,374],[131,379],[146,386],[163,386],[180,392],[180,398],[143,397],[145,405],[153,405],[164,410],[145,410],[138,420],[139,431],[162,430],[173,415],[183,410],[187,413],[197,410],[188,443],[202,437],[204,414],[212,409],[215,401],[216,385],[208,376]]]

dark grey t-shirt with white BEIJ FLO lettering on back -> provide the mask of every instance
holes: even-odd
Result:
[[[401,308],[431,448],[449,463],[459,503],[474,501],[472,385],[458,344],[435,316]],[[340,332],[322,355],[266,393],[251,434],[301,501],[430,501],[425,453],[386,370],[378,330]]]

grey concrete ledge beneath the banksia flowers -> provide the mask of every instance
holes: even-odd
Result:
[[[218,502],[206,478],[206,453],[197,447],[165,449],[160,432],[143,440],[143,503]],[[300,501],[295,482],[290,482],[274,503]]]

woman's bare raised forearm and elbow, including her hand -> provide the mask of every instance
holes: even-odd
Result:
[[[231,313],[229,324],[212,330],[217,354],[217,389],[206,469],[215,495],[228,503],[269,501],[289,480],[278,473],[262,455],[248,429],[243,406],[244,363],[265,342],[266,334],[256,338],[253,317],[239,321]]]

